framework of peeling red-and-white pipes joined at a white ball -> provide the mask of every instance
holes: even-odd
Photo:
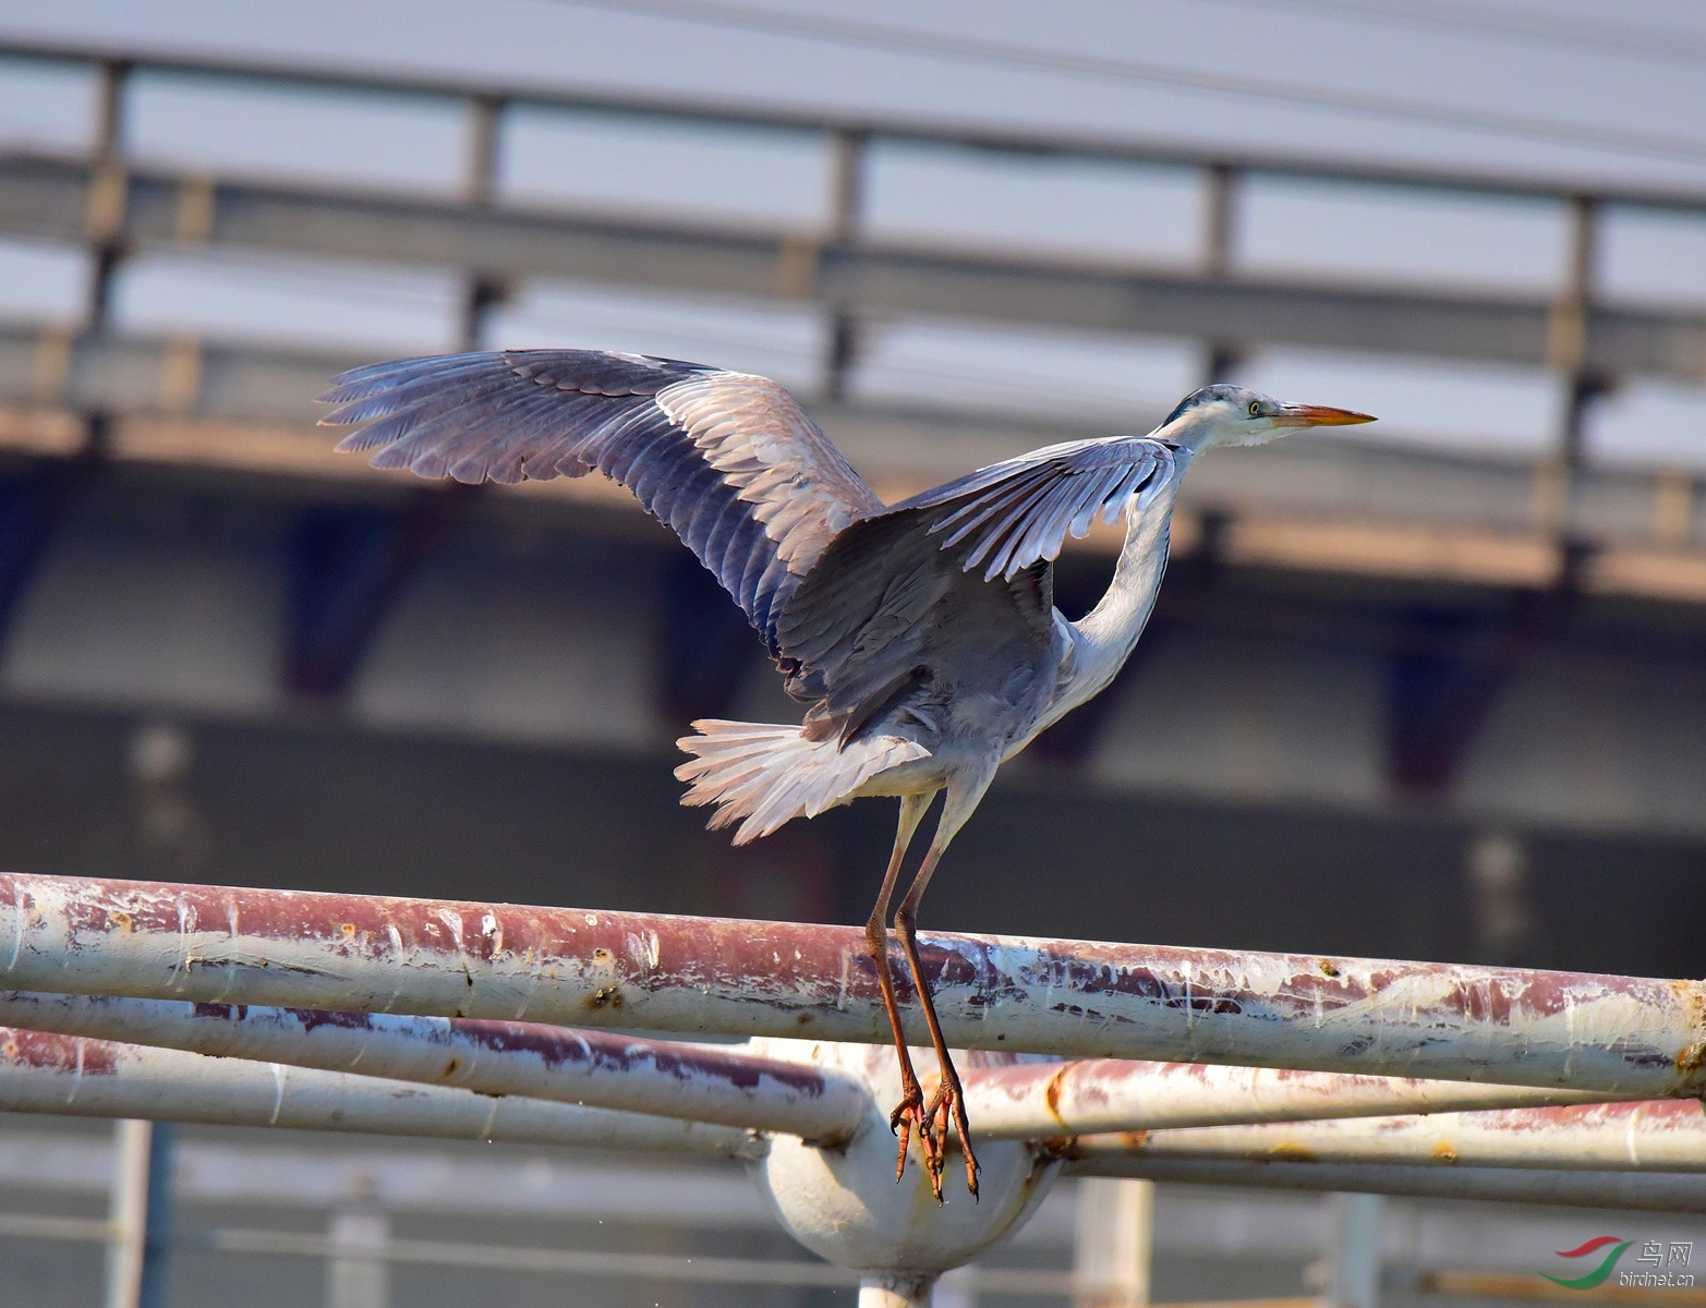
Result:
[[[952,935],[923,955],[949,1039],[1000,1050],[966,1073],[986,1194],[908,1218],[880,1276],[812,1180],[879,1226],[913,1202],[858,1180],[892,1149],[892,1059],[827,1044],[882,1039],[853,928],[0,877],[0,1108],[735,1158],[872,1305],[928,1303],[1063,1172],[1706,1211],[1701,982]],[[539,1025],[566,1022],[766,1039]]]

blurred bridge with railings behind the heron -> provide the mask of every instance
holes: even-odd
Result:
[[[0,237],[80,278],[0,326],[9,866],[856,919],[882,805],[742,851],[676,805],[670,742],[691,718],[795,709],[667,532],[607,484],[374,472],[329,452],[312,394],[341,367],[459,344],[698,355],[793,385],[897,498],[1049,440],[1143,430],[1232,377],[1389,401],[1397,435],[1192,471],[1138,657],[1003,773],[930,919],[1701,970],[1697,469],[1686,452],[1605,457],[1629,420],[1604,421],[1706,372],[1701,305],[1607,273],[1639,263],[1639,220],[1697,222],[1706,200],[9,53],[94,106],[75,145],[0,157]],[[457,176],[174,155],[160,123],[222,113],[220,95],[239,116],[254,95],[297,97],[304,121],[350,97],[418,114]],[[594,130],[638,142],[652,191],[529,189],[527,159]],[[684,159],[739,203],[706,208]],[[1058,217],[1030,237],[998,213],[1022,182]],[[1078,230],[1109,196],[1150,244]],[[1537,223],[1546,278],[1257,258],[1264,211],[1324,196],[1353,217],[1479,203],[1488,230]],[[264,309],[328,283],[345,300],[307,314],[326,339]],[[351,339],[338,305],[350,321],[401,305],[415,327],[362,319],[370,339]],[[1488,377],[1510,382],[1501,397]],[[1063,609],[1094,602],[1111,544],[1061,561]]]

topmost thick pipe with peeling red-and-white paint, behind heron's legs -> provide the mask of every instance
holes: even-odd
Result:
[[[1706,1090],[1706,982],[930,935],[962,1049]],[[0,984],[198,1003],[882,1042],[863,933],[0,875]],[[902,998],[904,989],[902,989]],[[916,1006],[908,1033],[925,1040]]]

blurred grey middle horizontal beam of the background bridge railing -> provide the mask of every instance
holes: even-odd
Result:
[[[85,240],[97,172],[85,160],[0,159],[0,232]],[[193,201],[193,203],[191,203]],[[1556,305],[1541,295],[1221,276],[1066,259],[996,258],[792,232],[543,215],[404,196],[310,191],[138,169],[113,240],[181,247],[184,213],[212,249],[430,264],[485,278],[568,278],[747,298],[807,298],[855,315],[964,317],[1080,331],[1283,343],[1544,367]],[[804,263],[802,263],[804,258]],[[1581,365],[1706,375],[1706,315],[1587,305]]]

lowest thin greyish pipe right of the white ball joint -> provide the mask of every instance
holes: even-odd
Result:
[[[1706,1185],[1692,1173],[1523,1172],[1501,1166],[1387,1166],[1382,1163],[1242,1163],[1213,1158],[1104,1156],[1063,1165],[1068,1177],[1136,1177],[1179,1185],[1394,1194],[1416,1199],[1489,1199],[1506,1204],[1706,1213]]]

